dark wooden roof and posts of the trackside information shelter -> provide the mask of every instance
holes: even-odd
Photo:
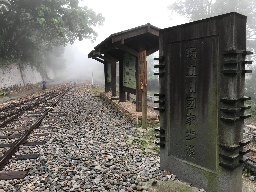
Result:
[[[115,63],[119,61],[119,100],[120,102],[126,101],[125,92],[136,95],[136,109],[138,112],[142,112],[142,89],[141,85],[138,84],[138,55],[140,52],[146,51],[147,56],[149,56],[159,50],[159,30],[160,28],[152,26],[150,25],[150,23],[148,23],[143,26],[112,34],[104,41],[102,41],[99,45],[94,47],[94,50],[92,50],[88,54],[88,58],[95,59],[104,64],[105,92],[109,92],[111,86],[113,97],[116,96]],[[129,76],[130,74],[130,71],[127,71],[126,74],[123,74],[123,72],[125,71],[124,65],[129,66],[129,61],[126,63],[123,62],[124,56],[127,56],[127,54],[129,54],[130,59],[135,58],[136,61],[135,73],[132,73],[135,74],[134,79],[136,79],[136,83],[132,88],[131,86],[129,87],[127,85],[124,85],[125,75],[127,74]],[[107,81],[108,65],[111,66],[111,83]]]

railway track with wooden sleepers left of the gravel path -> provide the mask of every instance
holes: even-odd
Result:
[[[38,131],[50,129],[51,125],[56,123],[58,119],[67,115],[66,111],[53,111],[53,109],[78,80],[69,81],[49,93],[0,109],[0,171],[10,159],[17,161],[39,157],[37,153],[14,155],[22,145],[45,144],[45,141],[40,140],[44,140],[44,137],[48,136],[49,133],[38,134]],[[31,140],[35,142],[27,142]],[[0,180],[22,179],[26,175],[26,171],[1,173]]]

